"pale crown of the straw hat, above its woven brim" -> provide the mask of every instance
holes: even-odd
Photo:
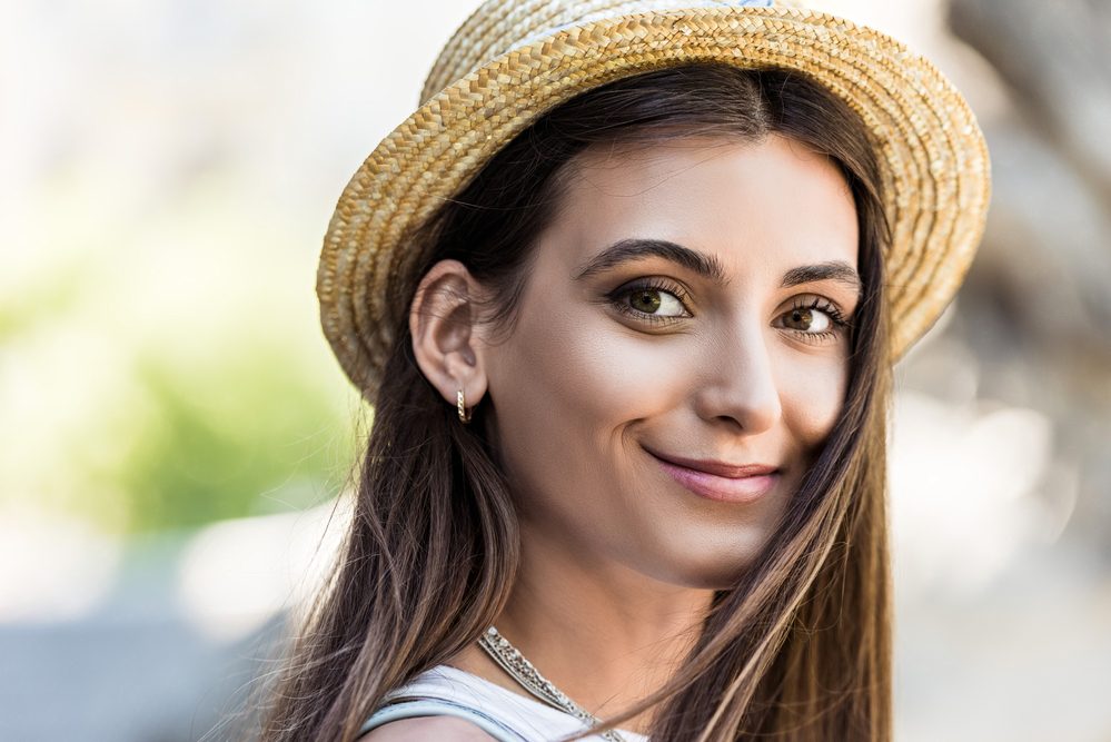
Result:
[[[486,0],[444,46],[420,91],[421,105],[486,62],[534,39],[591,21],[691,8],[770,8],[784,0]]]

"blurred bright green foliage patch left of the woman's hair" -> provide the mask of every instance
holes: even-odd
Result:
[[[182,373],[139,366],[153,400],[123,463],[127,530],[196,526],[296,509],[336,494],[354,457],[351,421],[290,348],[240,346]]]

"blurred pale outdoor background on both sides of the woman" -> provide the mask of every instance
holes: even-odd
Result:
[[[473,0],[0,10],[0,740],[221,739],[367,425],[317,324],[357,165]],[[986,131],[897,367],[897,739],[1111,740],[1111,2],[831,0]]]

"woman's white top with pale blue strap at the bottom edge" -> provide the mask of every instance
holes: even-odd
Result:
[[[417,675],[389,692],[386,703],[360,733],[398,719],[430,715],[462,716],[506,742],[553,742],[588,729],[569,713],[450,665],[437,665]],[[618,732],[627,742],[648,742],[644,734]],[[583,740],[604,742],[597,734]]]

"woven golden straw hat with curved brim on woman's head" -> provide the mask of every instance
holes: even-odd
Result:
[[[548,109],[678,63],[797,70],[843,98],[880,151],[893,240],[893,355],[934,324],[983,233],[989,161],[961,95],[875,30],[771,0],[487,0],[433,67],[424,101],[370,154],[328,226],[317,274],[324,333],[373,400],[393,342],[399,240]]]

